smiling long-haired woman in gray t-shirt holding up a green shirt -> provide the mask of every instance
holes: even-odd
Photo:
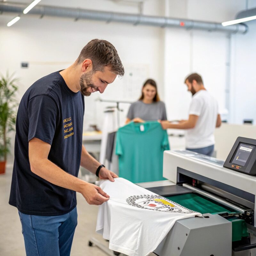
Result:
[[[125,124],[131,121],[142,123],[144,120],[167,120],[164,102],[160,101],[156,82],[152,79],[143,84],[140,99],[130,106]]]

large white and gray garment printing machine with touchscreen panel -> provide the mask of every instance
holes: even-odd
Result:
[[[203,217],[176,221],[154,253],[255,256],[255,175],[256,140],[238,137],[225,162],[186,150],[164,151],[163,176],[173,185],[143,187]]]

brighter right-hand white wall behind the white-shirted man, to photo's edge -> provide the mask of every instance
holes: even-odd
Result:
[[[165,14],[168,16],[215,22],[233,20],[237,12],[245,9],[245,1],[234,0],[170,0],[166,3]],[[249,0],[248,7],[255,6],[256,1]],[[255,23],[247,23],[249,33],[231,35],[231,39],[226,33],[219,32],[177,28],[164,30],[164,99],[170,120],[188,117],[191,94],[186,92],[184,78],[189,73],[196,72],[202,75],[206,89],[218,100],[222,118],[228,118],[229,122],[238,124],[246,118],[254,118],[256,121],[256,87],[253,86],[256,57],[253,47],[256,37]],[[226,102],[228,81],[229,104]],[[237,104],[238,102],[240,104]],[[251,108],[248,108],[248,105]]]

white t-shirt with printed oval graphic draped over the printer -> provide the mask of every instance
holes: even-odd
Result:
[[[96,232],[109,249],[129,256],[153,252],[176,220],[202,216],[123,178],[100,187],[110,199],[99,207]]]

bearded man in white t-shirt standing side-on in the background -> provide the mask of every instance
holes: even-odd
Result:
[[[186,149],[212,156],[214,151],[214,129],[220,127],[218,102],[204,88],[202,77],[196,73],[185,79],[188,91],[192,93],[188,120],[179,124],[161,121],[163,129],[186,129]]]

